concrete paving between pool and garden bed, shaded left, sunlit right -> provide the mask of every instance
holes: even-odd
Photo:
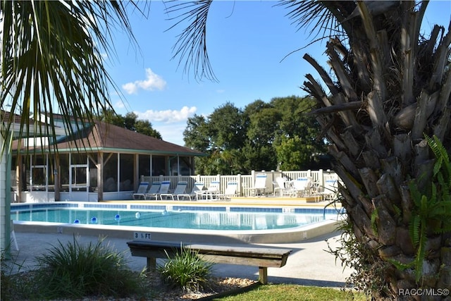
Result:
[[[20,251],[13,251],[16,262],[23,264],[23,269],[32,269],[35,266],[35,257],[45,254],[49,248],[58,245],[58,241],[66,245],[73,240],[73,235],[56,233],[17,233],[16,238]],[[330,233],[299,243],[271,245],[292,250],[287,264],[280,269],[268,268],[268,281],[270,283],[297,283],[301,285],[316,285],[326,287],[342,287],[345,285],[350,269],[343,270],[340,262],[335,263],[335,257],[326,252],[328,244],[338,246],[339,233]],[[80,236],[80,242],[97,242],[97,237]],[[128,259],[130,269],[141,271],[146,265],[146,259],[131,257],[128,240],[121,238],[106,238],[113,249],[124,252]],[[160,260],[160,259],[159,259]],[[258,268],[254,266],[236,266],[230,264],[216,264],[214,275],[235,278],[250,278],[257,280]]]

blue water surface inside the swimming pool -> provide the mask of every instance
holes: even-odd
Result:
[[[303,208],[106,206],[89,203],[11,207],[11,219],[15,221],[230,231],[295,228],[336,219],[338,212],[326,209],[326,214],[323,213],[323,209]]]

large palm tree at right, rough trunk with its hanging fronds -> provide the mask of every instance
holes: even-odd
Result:
[[[186,70],[215,80],[206,55],[210,5],[176,2],[168,10],[178,11],[176,25],[189,22],[175,56]],[[421,35],[428,1],[280,5],[295,23],[324,29],[328,39],[332,74],[306,54],[325,87],[307,74],[303,89],[318,102],[317,120],[337,161],[367,292],[394,299],[407,288],[450,289],[451,169],[440,152],[451,150],[450,28]]]

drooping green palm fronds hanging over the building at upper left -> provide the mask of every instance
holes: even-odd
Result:
[[[109,86],[116,86],[102,54],[113,54],[113,28],[120,27],[132,42],[134,37],[127,8],[118,1],[1,0],[0,27],[0,167],[5,175],[12,132],[16,138],[56,137],[53,114],[58,113],[71,135],[78,130],[70,127],[72,121],[90,123],[111,109]],[[49,121],[41,122],[40,113]],[[1,176],[1,238],[9,235],[6,183]],[[2,239],[0,248],[5,247]]]

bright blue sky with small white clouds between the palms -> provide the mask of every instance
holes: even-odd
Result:
[[[175,14],[164,13],[161,1],[150,3],[147,19],[132,13],[139,49],[118,32],[114,37],[117,57],[107,67],[124,96],[121,100],[111,95],[114,109],[123,116],[137,113],[139,119],[152,123],[163,140],[184,145],[183,130],[194,113],[208,116],[226,102],[244,109],[257,99],[269,102],[273,97],[304,96],[299,88],[304,75],[318,75],[302,56],[308,53],[326,66],[325,42],[306,47],[312,39],[309,32],[297,30],[285,16],[288,10],[274,4],[214,1],[206,45],[218,82],[198,82],[192,73],[183,72],[178,59],[171,60],[176,36],[183,28],[168,30],[174,24],[168,19]],[[450,17],[451,1],[431,1],[424,22],[447,29]]]

